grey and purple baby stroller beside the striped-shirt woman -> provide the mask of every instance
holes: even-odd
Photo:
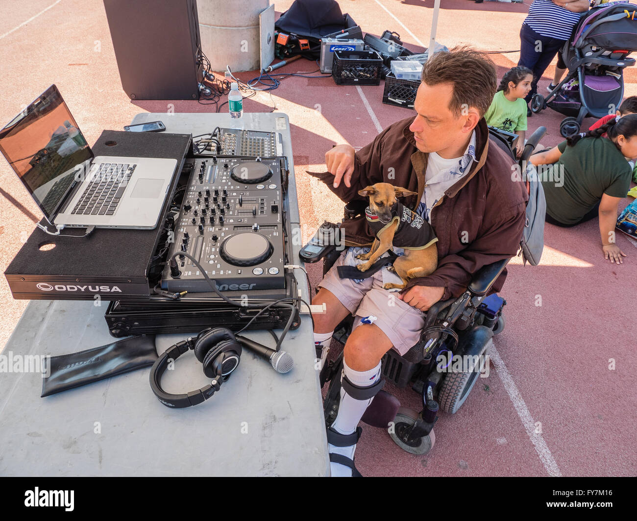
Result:
[[[624,68],[635,64],[628,58],[637,50],[637,6],[604,4],[582,13],[571,39],[560,51],[568,74],[546,98],[536,94],[531,111],[552,108],[567,116],[560,123],[563,137],[580,132],[588,116],[613,114],[624,96]]]

